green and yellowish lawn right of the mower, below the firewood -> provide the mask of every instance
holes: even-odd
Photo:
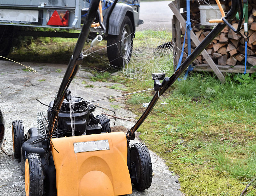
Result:
[[[169,104],[157,104],[139,129],[143,142],[180,176],[185,195],[240,195],[256,176],[256,82],[237,77],[228,75],[222,85],[207,73],[195,73],[175,82],[162,97]],[[132,97],[128,104],[141,111],[140,99]],[[247,193],[256,190],[250,186]]]

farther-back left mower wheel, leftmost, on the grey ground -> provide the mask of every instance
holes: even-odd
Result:
[[[22,121],[12,122],[12,145],[16,159],[21,158],[21,146],[25,142],[24,128]]]

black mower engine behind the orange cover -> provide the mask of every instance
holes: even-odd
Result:
[[[50,107],[53,106],[53,101],[49,104],[47,116],[49,121]],[[102,115],[95,117],[92,112],[95,110],[95,106],[92,103],[88,103],[84,98],[72,97],[68,102],[64,99],[59,112],[58,126],[52,138],[57,137],[69,137],[72,136],[72,125],[73,125],[73,136],[74,135],[91,135],[101,133]],[[70,112],[71,109],[71,112]],[[71,122],[70,115],[73,118]],[[99,117],[99,118],[98,118]],[[43,123],[45,115],[39,116],[37,119],[39,134],[45,134],[48,124]],[[42,128],[41,128],[42,127]],[[103,130],[103,132],[106,132]],[[109,131],[108,131],[109,132]]]

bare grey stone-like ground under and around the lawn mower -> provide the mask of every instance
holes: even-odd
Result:
[[[39,99],[49,104],[59,89],[66,65],[57,64],[33,64],[24,63],[34,67],[38,74],[23,71],[21,65],[0,61],[0,108],[4,113],[6,131],[4,150],[7,156],[0,150],[0,195],[1,196],[24,196],[24,176],[20,172],[20,163],[13,158],[12,150],[12,121],[22,120],[25,131],[36,127],[37,111],[46,111],[47,107],[36,101]],[[90,73],[79,71],[77,78],[72,82],[70,89],[73,95],[96,100],[115,95],[121,95],[121,90],[110,89],[115,83],[92,82],[88,79]],[[82,84],[83,82],[83,84]],[[85,84],[84,84],[85,83]],[[91,86],[91,87],[85,87]],[[120,84],[120,88],[123,88]],[[94,115],[107,113],[130,121],[111,118],[111,127],[116,130],[126,131],[134,124],[135,115],[124,105],[124,99],[110,102],[109,100],[95,102]],[[116,107],[113,107],[116,105]],[[116,108],[116,109],[113,109]],[[125,128],[124,128],[125,127]],[[135,142],[139,142],[136,140]],[[131,196],[181,196],[179,183],[167,169],[164,161],[155,153],[150,152],[153,164],[153,182],[148,190],[139,192],[133,188]]]

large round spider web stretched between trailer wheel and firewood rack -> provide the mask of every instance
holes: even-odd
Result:
[[[133,39],[133,49],[129,63],[124,63],[121,71],[124,77],[150,80],[152,73],[173,73],[173,45],[169,33],[149,23],[137,30]],[[111,62],[110,62],[111,64]]]

